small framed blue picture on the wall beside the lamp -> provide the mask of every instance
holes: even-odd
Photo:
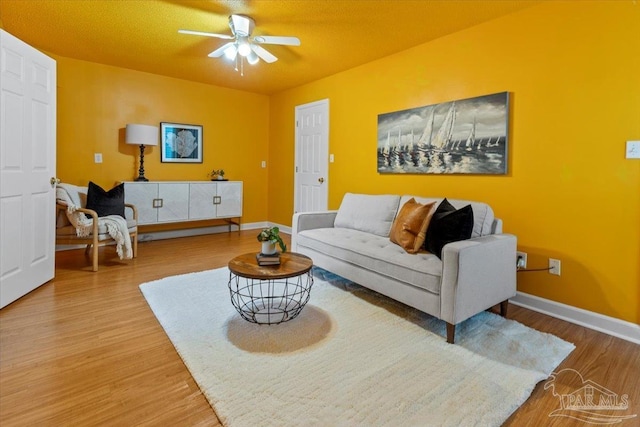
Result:
[[[163,163],[202,163],[202,126],[160,123]]]

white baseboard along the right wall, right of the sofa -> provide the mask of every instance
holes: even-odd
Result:
[[[640,344],[640,325],[594,313],[593,311],[573,307],[524,292],[509,300],[511,303],[537,311],[557,319],[566,320],[576,325],[603,332],[632,343]]]

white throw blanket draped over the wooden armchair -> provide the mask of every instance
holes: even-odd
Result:
[[[86,237],[91,234],[93,219],[85,215],[84,212],[78,212],[78,208],[82,207],[80,188],[82,187],[71,184],[58,184],[56,199],[67,205],[67,218],[75,227],[76,234],[79,237]],[[124,218],[120,215],[103,216],[98,218],[98,227],[100,226],[105,226],[109,236],[116,241],[116,252],[120,259],[133,258],[129,229]]]

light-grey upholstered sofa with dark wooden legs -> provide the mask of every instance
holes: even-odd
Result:
[[[293,216],[291,250],[314,265],[455,325],[500,304],[506,315],[516,294],[516,237],[502,233],[502,221],[485,203],[471,205],[471,238],[446,244],[442,260],[421,250],[410,254],[392,243],[389,232],[398,211],[411,198],[425,204],[443,199],[347,193],[337,211]]]

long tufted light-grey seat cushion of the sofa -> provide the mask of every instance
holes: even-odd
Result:
[[[298,247],[440,294],[442,261],[433,254],[409,254],[388,237],[345,228],[305,230],[296,239]]]

